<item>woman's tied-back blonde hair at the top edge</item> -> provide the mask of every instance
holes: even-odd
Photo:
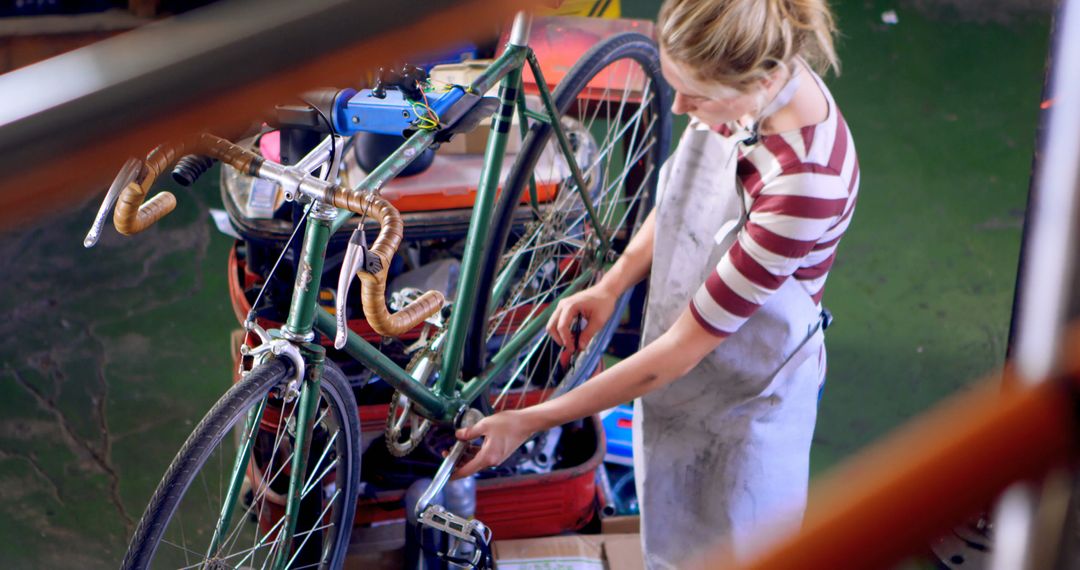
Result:
[[[801,56],[839,74],[825,0],[665,0],[660,46],[696,79],[747,91]]]

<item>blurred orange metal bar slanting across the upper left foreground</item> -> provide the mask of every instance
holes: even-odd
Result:
[[[203,131],[229,137],[241,132],[274,104],[312,87],[351,84],[357,73],[402,54],[437,49],[453,41],[488,38],[494,26],[538,0],[462,0],[435,13],[417,12],[415,23],[329,53],[307,65],[285,69],[213,97],[189,104],[51,162],[17,173],[0,173],[0,228],[64,205],[96,196],[127,157],[141,157],[164,140]]]

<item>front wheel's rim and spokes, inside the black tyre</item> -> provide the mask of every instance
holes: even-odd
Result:
[[[265,404],[264,404],[265,402]],[[247,412],[261,408],[251,431]],[[285,497],[294,440],[296,406],[279,397],[255,398],[235,413],[207,453],[199,472],[177,503],[162,530],[152,568],[272,568],[284,541]],[[327,392],[315,413],[307,475],[301,485],[301,508],[288,558],[289,568],[315,568],[335,556],[341,511],[347,492],[338,481],[347,481],[347,434],[340,407],[332,405]],[[212,537],[227,497],[238,449],[252,442],[242,492],[231,510],[231,525],[211,552]]]

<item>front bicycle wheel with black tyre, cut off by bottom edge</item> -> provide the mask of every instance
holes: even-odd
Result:
[[[298,408],[280,397],[291,370],[291,363],[278,358],[255,367],[206,413],[158,485],[122,568],[273,567],[284,546],[280,531]],[[341,371],[329,363],[314,418],[289,568],[340,567],[356,508],[356,402]],[[225,508],[238,450],[245,447],[249,452],[240,492],[232,507]],[[212,551],[222,513],[231,515],[231,525]]]

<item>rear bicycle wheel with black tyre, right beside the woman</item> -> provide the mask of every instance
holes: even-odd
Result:
[[[579,191],[551,125],[534,123],[495,212],[494,239],[480,285],[480,290],[491,294],[482,296],[472,323],[467,374],[481,370],[487,357],[538,318],[572,282],[581,277],[584,286],[595,283],[652,208],[671,140],[671,95],[660,74],[656,43],[638,33],[623,33],[595,45],[553,95],[588,188]],[[531,219],[523,223],[519,209],[530,178],[538,185],[558,181],[554,199],[531,208]],[[596,212],[595,225],[582,194]],[[605,256],[598,255],[597,227],[611,239],[612,248]],[[504,378],[492,382],[494,408],[529,405],[591,376],[629,298],[627,293],[618,300],[616,316],[572,357],[541,329]]]

